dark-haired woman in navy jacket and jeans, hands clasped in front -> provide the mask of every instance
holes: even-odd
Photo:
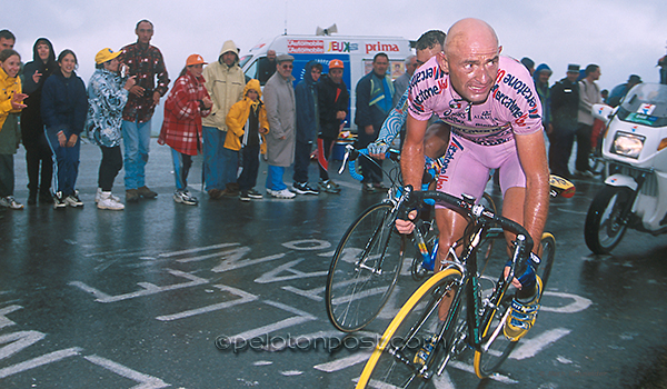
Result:
[[[72,50],[61,51],[58,56],[59,69],[44,81],[42,88],[41,114],[56,169],[56,209],[83,207],[76,186],[81,148],[79,136],[86,124],[88,97],[83,80],[74,71],[77,63]]]

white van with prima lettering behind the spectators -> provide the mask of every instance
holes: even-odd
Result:
[[[257,78],[260,59],[267,57],[268,50],[276,53],[288,53],[295,57],[292,76],[295,86],[303,78],[306,63],[316,60],[322,64],[322,73],[329,72],[329,61],[339,59],[345,64],[342,80],[350,92],[350,109],[347,128],[356,129],[355,88],[359,79],[372,70],[372,58],[378,52],[389,57],[391,78],[396,79],[405,72],[405,60],[412,54],[409,40],[399,37],[345,37],[345,36],[279,36],[271,41],[260,42],[250,52],[242,56],[240,66],[246,76]]]

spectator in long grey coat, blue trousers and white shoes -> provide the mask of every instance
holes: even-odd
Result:
[[[277,59],[277,70],[265,86],[265,102],[269,120],[267,134],[267,193],[279,199],[293,199],[295,193],[282,182],[285,168],[295,160],[296,100],[291,74],[295,58],[281,54]]]

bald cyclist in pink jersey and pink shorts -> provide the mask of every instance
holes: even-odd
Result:
[[[420,188],[427,120],[437,113],[451,131],[437,190],[480,198],[489,170],[499,169],[502,216],[525,226],[537,252],[549,205],[549,170],[541,107],[530,74],[518,61],[500,57],[496,32],[478,19],[456,22],[444,49],[415,72],[408,88],[409,116],[401,153],[405,183]],[[409,218],[414,217],[415,212]],[[437,207],[436,222],[441,263],[467,221],[451,209]],[[402,233],[414,229],[408,220],[399,219],[396,226]],[[512,280],[518,291],[505,326],[511,340],[532,327],[539,310],[541,281],[535,276],[539,258],[530,258],[526,272]]]

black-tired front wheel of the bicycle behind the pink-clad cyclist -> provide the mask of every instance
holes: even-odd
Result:
[[[336,248],[325,300],[327,316],[340,331],[358,331],[371,322],[396,285],[409,242],[396,230],[392,209],[390,203],[368,208],[350,225]]]

